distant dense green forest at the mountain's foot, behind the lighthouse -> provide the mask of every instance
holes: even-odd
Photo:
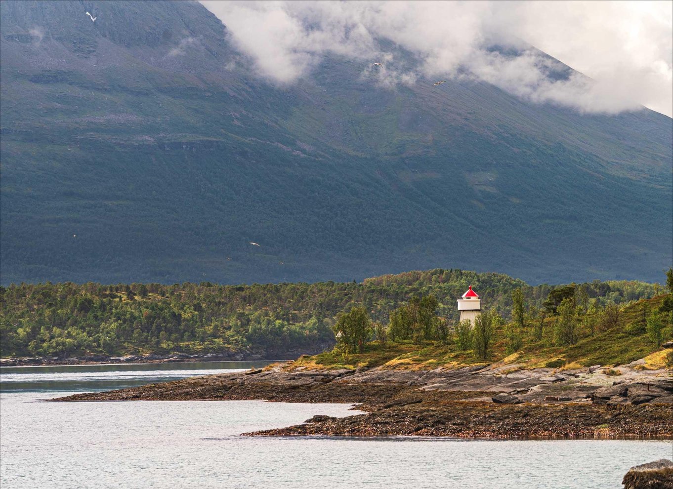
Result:
[[[528,306],[539,308],[546,307],[550,297],[548,307],[553,307],[559,294],[561,301],[567,298],[564,287],[575,291],[578,300],[586,296],[600,307],[658,292],[658,285],[642,282],[531,287],[504,274],[443,269],[369,278],[363,283],[22,283],[0,287],[0,354],[308,350],[334,344],[332,327],[341,313],[355,306],[363,307],[372,324],[399,338],[410,335],[409,317],[420,311],[423,317],[437,318],[425,325],[423,338],[441,337],[458,319],[456,299],[468,285],[505,319],[511,317],[515,290],[521,291]],[[429,308],[431,315],[424,312]],[[421,336],[411,333],[409,337]]]

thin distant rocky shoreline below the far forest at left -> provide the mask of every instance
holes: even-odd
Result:
[[[172,363],[172,362],[227,362],[227,361],[277,361],[292,360],[302,354],[315,354],[322,351],[322,346],[315,350],[275,351],[224,351],[213,353],[168,353],[168,354],[137,354],[125,356],[80,355],[80,356],[21,356],[0,359],[0,367],[27,367],[30,365],[102,365],[110,363]]]

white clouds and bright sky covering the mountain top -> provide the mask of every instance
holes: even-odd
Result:
[[[584,113],[645,105],[673,116],[672,1],[201,3],[253,60],[250,69],[277,85],[310,77],[336,53],[376,69],[386,87],[469,78]],[[557,62],[538,50],[579,73],[550,77]]]

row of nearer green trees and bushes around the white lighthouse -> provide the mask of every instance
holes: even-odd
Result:
[[[339,315],[332,327],[337,340],[335,351],[344,355],[361,353],[371,341],[384,348],[388,340],[411,340],[415,344],[434,341],[452,344],[456,351],[470,350],[476,359],[485,361],[491,359],[496,339],[501,340],[503,353],[509,355],[524,346],[571,346],[606,332],[647,336],[651,348],[659,348],[666,338],[673,337],[673,268],[666,272],[666,295],[655,301],[639,301],[637,307],[627,308],[606,302],[604,297],[592,297],[597,290],[609,293],[610,289],[601,283],[556,287],[538,307],[526,297],[524,287],[518,287],[511,291],[509,322],[495,307],[484,309],[474,322],[441,317],[433,295],[412,297],[390,313],[388,324],[373,322],[364,307],[353,307]]]

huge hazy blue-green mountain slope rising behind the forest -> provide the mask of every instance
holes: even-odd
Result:
[[[279,87],[188,1],[1,1],[0,38],[3,284],[660,280],[673,260],[651,110],[382,87],[336,55]]]

